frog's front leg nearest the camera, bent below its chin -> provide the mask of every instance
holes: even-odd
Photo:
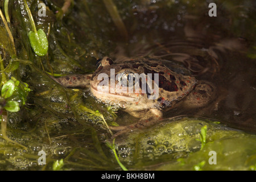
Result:
[[[140,118],[137,123],[127,125],[127,126],[110,126],[110,129],[113,131],[118,131],[115,133],[112,138],[115,138],[124,133],[129,133],[134,129],[146,129],[150,126],[153,126],[161,122],[163,113],[159,109],[148,109],[141,112],[131,112],[129,113],[136,118]]]

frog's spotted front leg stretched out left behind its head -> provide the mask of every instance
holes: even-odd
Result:
[[[90,87],[90,78],[92,74],[85,75],[67,75],[61,77],[52,77],[53,80],[58,82],[60,85],[63,85],[68,88],[89,88]]]

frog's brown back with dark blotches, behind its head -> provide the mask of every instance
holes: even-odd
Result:
[[[152,80],[158,82],[158,98],[147,101],[147,105],[162,106],[173,105],[174,102],[184,98],[196,84],[196,79],[191,76],[188,69],[174,61],[138,58],[119,64],[123,71],[133,70],[134,73],[152,74]],[[153,76],[158,73],[157,80]]]

